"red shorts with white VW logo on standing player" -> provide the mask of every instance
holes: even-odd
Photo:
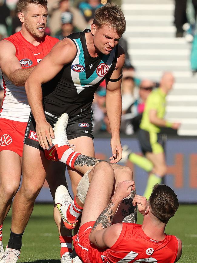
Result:
[[[10,150],[22,157],[27,123],[0,118],[0,152]]]

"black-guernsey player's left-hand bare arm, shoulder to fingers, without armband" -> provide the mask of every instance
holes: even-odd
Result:
[[[54,138],[54,133],[45,118],[41,85],[53,79],[65,64],[70,63],[76,51],[72,40],[65,39],[58,42],[51,52],[39,62],[25,83],[28,102],[36,122],[36,134],[43,149],[48,149],[48,143],[52,146],[51,137]]]

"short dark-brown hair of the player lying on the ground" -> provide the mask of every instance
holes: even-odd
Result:
[[[179,207],[175,192],[167,185],[155,184],[149,198],[152,214],[163,223],[173,217]]]

